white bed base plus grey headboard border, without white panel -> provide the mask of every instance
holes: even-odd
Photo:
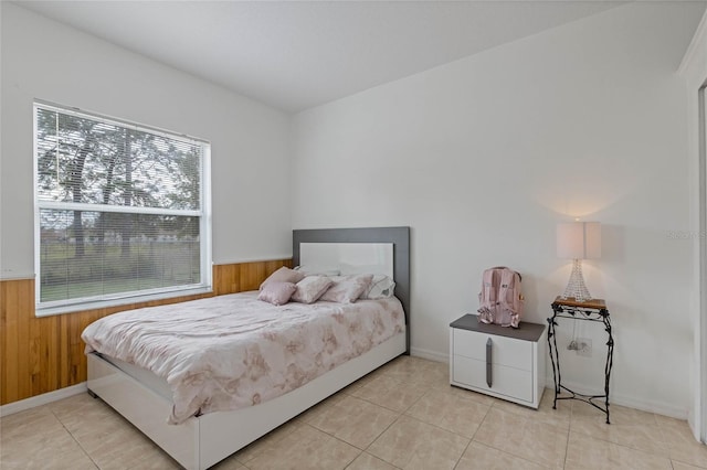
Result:
[[[367,353],[304,386],[263,404],[211,413],[168,425],[172,403],[99,355],[88,355],[88,391],[110,405],[187,469],[207,469],[277,426],[409,352],[409,227],[294,231],[293,260],[300,264],[302,243],[390,243],[393,246],[395,296],[405,310],[407,328]]]

